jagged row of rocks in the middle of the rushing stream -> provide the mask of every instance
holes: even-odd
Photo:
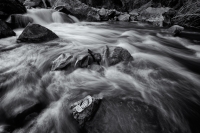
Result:
[[[122,47],[104,47],[102,53],[95,53],[88,50],[88,54],[74,57],[69,53],[62,53],[52,61],[51,70],[71,70],[76,68],[88,68],[97,72],[102,72],[104,67],[116,65],[118,63],[128,63],[133,61],[131,54]]]

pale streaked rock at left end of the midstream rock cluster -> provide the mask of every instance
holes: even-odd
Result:
[[[52,62],[52,68],[51,70],[60,70],[64,69],[67,66],[71,65],[71,60],[72,60],[72,55],[71,54],[61,54]]]

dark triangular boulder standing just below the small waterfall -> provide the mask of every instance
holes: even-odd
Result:
[[[51,30],[38,24],[29,24],[19,36],[17,42],[40,43],[56,38],[58,36]]]

